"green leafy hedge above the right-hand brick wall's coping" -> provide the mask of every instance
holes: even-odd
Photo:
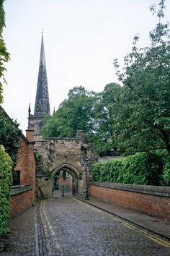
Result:
[[[170,184],[170,158],[153,153],[136,153],[126,158],[94,163],[90,171],[94,182]]]

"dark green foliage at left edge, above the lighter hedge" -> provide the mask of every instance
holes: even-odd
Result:
[[[17,163],[17,153],[21,137],[21,131],[18,127],[17,121],[12,121],[9,116],[6,116],[3,108],[0,106],[0,145],[4,146],[14,165]]]

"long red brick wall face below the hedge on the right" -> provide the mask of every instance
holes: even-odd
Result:
[[[90,185],[91,197],[170,220],[170,197]]]

